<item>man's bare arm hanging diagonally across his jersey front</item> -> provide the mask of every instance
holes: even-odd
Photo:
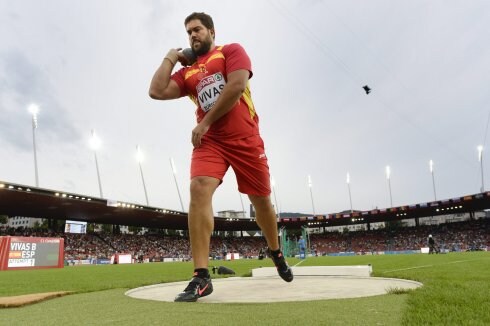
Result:
[[[227,75],[227,82],[213,108],[204,116],[201,122],[192,130],[192,145],[201,145],[202,136],[209,130],[209,127],[219,118],[233,109],[240,100],[245,88],[247,87],[250,72],[239,69]]]

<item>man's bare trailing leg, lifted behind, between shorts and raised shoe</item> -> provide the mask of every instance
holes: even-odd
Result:
[[[279,239],[277,234],[276,212],[272,206],[270,196],[248,195],[255,208],[255,218],[257,224],[265,236],[270,250],[279,249]]]

